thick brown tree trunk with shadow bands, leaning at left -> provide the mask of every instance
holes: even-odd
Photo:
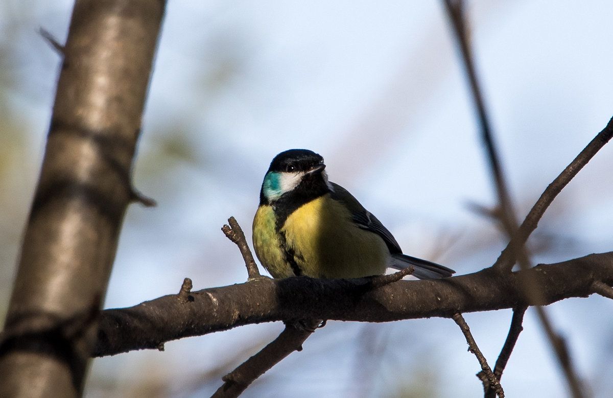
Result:
[[[0,349],[0,396],[79,396],[126,208],[162,0],[77,0]]]

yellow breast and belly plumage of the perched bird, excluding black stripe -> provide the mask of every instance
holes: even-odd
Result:
[[[329,195],[289,215],[281,237],[274,220],[272,207],[260,207],[253,240],[257,257],[275,278],[294,275],[288,253],[303,275],[315,278],[357,278],[386,270],[389,250],[383,239],[354,224],[349,210]]]

